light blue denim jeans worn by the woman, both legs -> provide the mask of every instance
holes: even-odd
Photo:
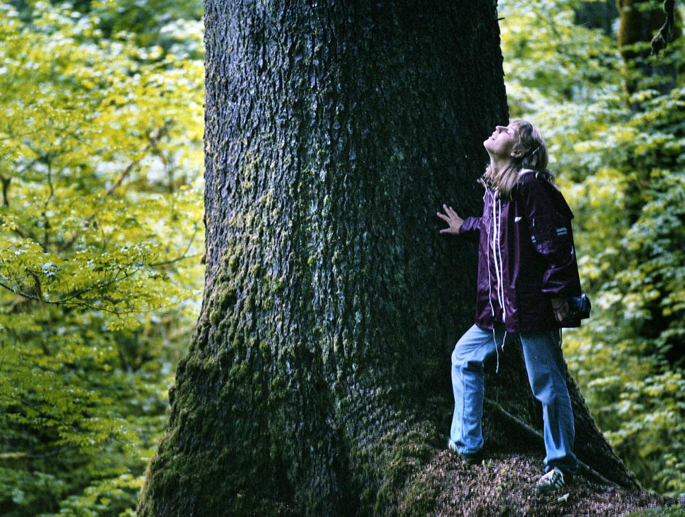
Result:
[[[508,333],[507,338],[510,336],[512,334]],[[558,467],[575,474],[578,462],[573,453],[573,409],[566,388],[566,366],[558,331],[522,332],[519,336],[530,387],[535,398],[543,403],[546,470]],[[502,346],[504,327],[501,323],[495,325],[495,338]],[[452,352],[454,414],[449,434],[460,453],[475,453],[483,446],[483,362],[495,353],[495,338],[492,330],[473,325]]]

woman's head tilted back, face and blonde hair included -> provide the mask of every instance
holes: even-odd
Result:
[[[498,190],[503,197],[511,194],[523,169],[532,169],[538,177],[553,181],[547,170],[547,144],[538,128],[530,122],[514,118],[506,127],[497,126],[484,145],[490,154],[490,163],[480,182]],[[495,162],[501,166],[496,168],[493,166]]]

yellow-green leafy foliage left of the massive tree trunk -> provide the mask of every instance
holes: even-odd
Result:
[[[0,514],[132,515],[199,311],[201,24],[20,7],[0,5]]]

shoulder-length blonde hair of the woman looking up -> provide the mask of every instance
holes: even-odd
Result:
[[[537,127],[523,118],[514,118],[510,125],[519,134],[519,142],[514,144],[512,152],[519,151],[521,156],[512,156],[511,164],[501,169],[493,171],[488,163],[485,173],[478,179],[478,182],[486,188],[497,190],[501,197],[510,197],[512,190],[519,181],[519,173],[524,168],[535,171],[536,177],[553,182],[553,175],[547,170],[547,144]]]

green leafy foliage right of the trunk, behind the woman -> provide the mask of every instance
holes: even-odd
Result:
[[[564,334],[571,373],[643,485],[677,496],[685,492],[685,38],[646,73],[625,66],[615,38],[574,24],[582,7],[499,3],[510,112],[542,127],[576,216],[593,317]],[[638,74],[632,95],[628,73]]]

